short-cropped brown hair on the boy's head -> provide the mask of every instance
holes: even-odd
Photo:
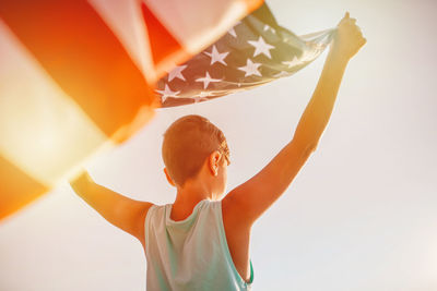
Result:
[[[223,132],[204,117],[190,114],[179,118],[164,133],[164,163],[179,186],[199,173],[214,150],[222,150],[228,159],[229,150]]]

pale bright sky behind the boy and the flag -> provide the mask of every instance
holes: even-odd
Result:
[[[437,46],[433,0],[269,1],[296,34],[350,11],[366,46],[350,62],[317,150],[253,227],[253,290],[437,290]],[[292,138],[327,53],[244,94],[158,111],[88,166],[97,183],[173,203],[162,134],[198,113],[225,133],[231,191]],[[80,141],[78,141],[80,143]],[[64,183],[0,225],[0,290],[145,290],[145,257]]]

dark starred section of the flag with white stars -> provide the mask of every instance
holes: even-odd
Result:
[[[335,28],[297,36],[264,3],[157,82],[162,107],[201,102],[290,76],[312,62]]]

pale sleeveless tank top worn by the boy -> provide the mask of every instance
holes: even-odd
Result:
[[[235,268],[226,242],[222,202],[203,199],[175,221],[173,204],[153,205],[145,217],[147,290],[251,290]]]

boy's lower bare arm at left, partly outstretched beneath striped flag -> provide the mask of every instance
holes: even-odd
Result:
[[[107,221],[132,234],[144,245],[144,219],[153,204],[128,198],[96,184],[86,171],[69,182],[74,192]]]

